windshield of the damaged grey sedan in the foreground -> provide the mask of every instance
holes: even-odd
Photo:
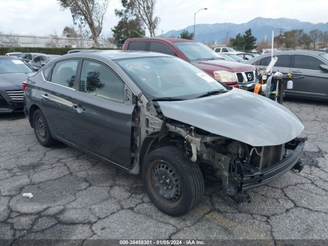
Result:
[[[148,99],[194,99],[209,91],[226,91],[213,77],[176,57],[116,60]]]

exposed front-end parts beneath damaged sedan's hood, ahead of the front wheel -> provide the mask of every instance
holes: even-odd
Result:
[[[223,190],[235,202],[249,200],[249,189],[268,183],[291,169],[301,171],[300,156],[305,138],[297,137],[283,145],[253,147],[201,129],[167,124],[169,132],[181,134],[190,160],[221,180]]]

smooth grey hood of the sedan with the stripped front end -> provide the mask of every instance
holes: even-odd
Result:
[[[240,89],[185,101],[158,101],[168,118],[251,146],[273,146],[302,133],[301,120],[273,100]]]

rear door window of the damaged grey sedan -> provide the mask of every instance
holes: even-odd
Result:
[[[77,64],[77,59],[59,61],[52,70],[50,81],[58,85],[74,88]]]

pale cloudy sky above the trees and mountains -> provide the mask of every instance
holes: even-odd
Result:
[[[273,5],[274,3],[274,5]],[[273,6],[273,7],[271,7]],[[121,8],[120,0],[110,0],[103,34],[111,36],[111,28],[118,18],[114,14]],[[155,14],[161,18],[158,28],[164,33],[194,24],[247,23],[256,17],[292,18],[302,22],[327,23],[326,0],[157,0]],[[65,26],[73,25],[69,10],[60,10],[56,0],[0,0],[0,31],[15,34],[61,34]],[[160,35],[161,30],[156,30]]]

